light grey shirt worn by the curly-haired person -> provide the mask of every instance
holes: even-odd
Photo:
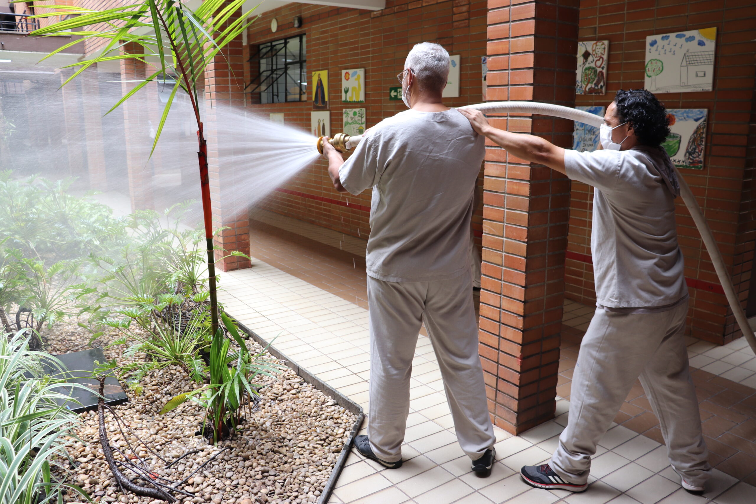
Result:
[[[565,171],[596,188],[590,236],[596,305],[653,311],[687,298],[674,196],[651,159],[633,149],[565,150]]]

